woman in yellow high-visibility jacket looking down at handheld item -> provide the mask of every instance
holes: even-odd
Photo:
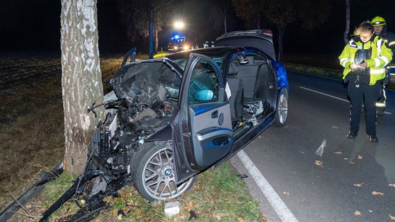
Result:
[[[340,65],[344,67],[343,79],[348,83],[348,96],[351,102],[350,131],[347,137],[357,137],[364,103],[366,134],[370,142],[378,142],[376,101],[382,90],[385,66],[392,60],[392,51],[385,40],[373,33],[371,22],[362,22],[355,28],[355,37],[344,46],[339,60]]]

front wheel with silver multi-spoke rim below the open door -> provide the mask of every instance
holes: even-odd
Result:
[[[150,142],[140,147],[132,167],[134,186],[143,198],[174,199],[190,189],[194,177],[176,185],[175,167],[169,142]]]

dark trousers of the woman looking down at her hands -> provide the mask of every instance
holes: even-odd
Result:
[[[358,87],[359,86],[359,87]],[[376,101],[380,97],[382,86],[380,83],[369,85],[369,76],[350,77],[348,82],[348,96],[350,97],[350,131],[360,130],[362,104],[365,106],[366,133],[376,135]]]

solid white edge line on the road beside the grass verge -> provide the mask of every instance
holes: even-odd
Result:
[[[255,164],[250,160],[247,154],[243,150],[237,153],[237,156],[243,162],[245,168],[250,173],[250,176],[255,180],[259,189],[266,196],[266,199],[271,203],[273,209],[280,217],[283,222],[298,222],[295,216],[293,216],[291,210],[285,205],[280,196],[275,192],[273,187],[269,184],[268,180],[264,178],[262,173],[255,167]]]

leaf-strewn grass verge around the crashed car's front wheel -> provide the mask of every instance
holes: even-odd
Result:
[[[62,175],[46,187],[46,207],[72,184],[70,179],[70,176]],[[92,221],[188,221],[193,213],[197,216],[193,221],[266,221],[259,212],[259,204],[252,200],[243,179],[237,176],[229,162],[200,173],[193,187],[173,201],[179,202],[180,212],[167,216],[164,201],[150,203],[133,186],[125,186],[118,191],[117,197],[105,198],[111,207],[102,210]],[[51,221],[59,221],[76,210],[76,204],[69,201],[52,216]]]

